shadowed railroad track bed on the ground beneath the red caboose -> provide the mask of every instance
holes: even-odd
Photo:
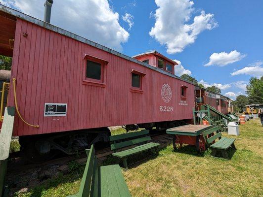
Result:
[[[160,143],[161,148],[172,142],[172,136],[166,133],[151,134],[151,138],[153,142]],[[96,156],[101,163],[112,153],[113,151],[110,150],[110,147],[106,147],[97,150]],[[63,174],[69,173],[68,164],[73,160],[76,160],[79,164],[86,164],[87,157],[85,153],[82,153],[78,159],[76,156],[66,156],[41,164],[23,164],[19,152],[11,153],[7,169],[7,182],[11,186],[10,194],[12,195],[12,192],[19,191],[25,187],[32,188],[39,185],[42,180],[50,178],[59,172]]]

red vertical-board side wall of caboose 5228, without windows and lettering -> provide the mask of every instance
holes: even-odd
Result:
[[[27,33],[28,36],[23,36]],[[83,84],[85,54],[108,61],[105,86]],[[131,92],[131,69],[142,77],[142,93]],[[18,107],[13,135],[72,131],[136,123],[192,118],[194,86],[150,68],[17,19],[11,78],[16,78]],[[172,99],[161,97],[164,84],[172,89]],[[179,105],[180,87],[187,86],[186,103]],[[8,105],[14,106],[13,87]],[[44,103],[67,103],[67,116],[44,117]],[[160,112],[172,106],[173,112]]]

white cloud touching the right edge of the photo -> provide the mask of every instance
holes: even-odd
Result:
[[[231,73],[232,76],[239,75],[239,74],[247,74],[252,75],[255,77],[260,77],[263,75],[263,62],[255,62],[253,64],[248,65],[247,67],[244,67],[240,70],[236,70]]]

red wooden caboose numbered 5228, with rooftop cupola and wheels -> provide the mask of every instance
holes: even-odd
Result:
[[[154,52],[149,62],[0,5],[0,54],[13,58],[8,106],[21,150],[67,154],[107,141],[109,126],[157,129],[193,118],[194,85],[176,63]],[[150,54],[148,54],[150,55]],[[149,56],[150,57],[150,56]],[[162,65],[162,67],[160,67]]]

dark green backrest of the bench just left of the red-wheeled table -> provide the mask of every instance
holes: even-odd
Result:
[[[150,141],[151,137],[148,136],[147,134],[149,134],[149,130],[130,132],[130,133],[124,133],[124,134],[119,134],[119,135],[112,135],[110,136],[110,142],[112,143],[111,150],[115,152],[117,149],[120,149],[123,147],[131,146],[131,145],[141,143],[141,142]],[[137,136],[140,136],[140,137],[127,140],[129,138],[134,138]]]

